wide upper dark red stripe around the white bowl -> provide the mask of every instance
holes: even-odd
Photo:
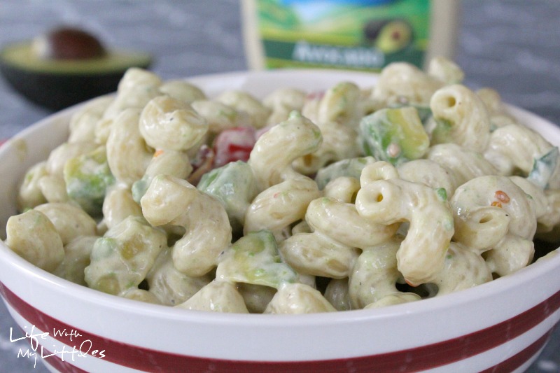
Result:
[[[346,371],[349,368],[354,372],[416,372],[454,363],[493,349],[531,330],[560,308],[559,291],[535,307],[502,323],[436,344],[358,358],[258,362],[199,358],[123,344],[112,339],[92,335],[44,314],[15,295],[1,282],[0,293],[23,318],[39,330],[47,332],[53,330],[53,328],[57,330],[76,330],[82,335],[82,337],[76,337],[51,334],[52,337],[66,345],[79,346],[81,342],[89,339],[96,349],[105,350],[104,360],[106,361],[137,370],[153,370],[158,367],[158,370],[163,372],[181,371],[186,367],[188,367],[189,372],[207,372],[209,367],[215,368],[218,372],[227,370],[228,372],[240,373],[286,371],[323,373]]]

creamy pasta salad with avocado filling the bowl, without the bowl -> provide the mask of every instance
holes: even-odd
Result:
[[[130,69],[31,167],[6,245],[182,309],[302,314],[471,288],[557,241],[559,150],[434,59],[373,87],[207,97]]]

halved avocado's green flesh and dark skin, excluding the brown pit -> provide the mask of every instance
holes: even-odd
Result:
[[[151,55],[144,52],[106,50],[99,57],[45,58],[36,41],[7,45],[0,52],[0,71],[12,87],[30,101],[60,110],[115,92],[125,71],[148,68]]]

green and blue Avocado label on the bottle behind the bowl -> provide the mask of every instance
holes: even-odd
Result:
[[[429,0],[257,0],[265,67],[422,66]]]

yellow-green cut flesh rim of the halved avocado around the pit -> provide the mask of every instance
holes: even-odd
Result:
[[[1,52],[0,61],[19,69],[41,73],[94,74],[124,71],[131,66],[147,67],[151,56],[141,52],[111,50],[104,57],[81,60],[41,59],[31,43],[9,45]]]

